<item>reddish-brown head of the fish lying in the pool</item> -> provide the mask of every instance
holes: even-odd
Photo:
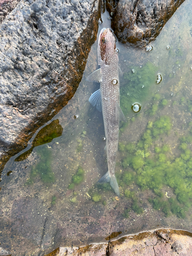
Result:
[[[99,34],[98,38],[98,65],[110,65],[115,59],[114,57],[117,56],[116,53],[116,37],[111,29],[103,28]]]

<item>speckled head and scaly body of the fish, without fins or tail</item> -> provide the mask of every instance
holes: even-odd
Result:
[[[104,43],[102,38],[105,39]],[[104,30],[101,34],[99,47],[102,59],[100,65],[100,93],[106,137],[106,154],[109,174],[114,175],[119,139],[119,118],[116,114],[116,103],[119,104],[119,59],[118,53],[115,51],[116,38],[110,29]],[[113,84],[114,79],[117,80],[117,84]]]

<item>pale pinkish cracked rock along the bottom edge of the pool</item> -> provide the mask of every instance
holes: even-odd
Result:
[[[189,256],[191,248],[191,233],[182,230],[159,229],[122,237],[109,243],[91,244],[84,247],[60,247],[47,256]]]

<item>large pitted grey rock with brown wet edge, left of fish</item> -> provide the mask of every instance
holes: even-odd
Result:
[[[22,1],[0,27],[2,169],[73,97],[96,39],[98,1]]]

